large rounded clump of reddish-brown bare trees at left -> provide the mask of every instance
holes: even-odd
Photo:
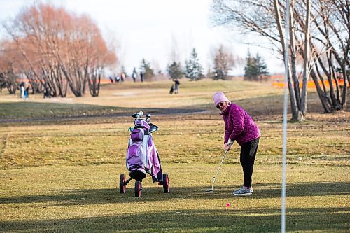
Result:
[[[76,16],[50,4],[30,6],[5,25],[29,65],[31,77],[50,88],[53,96],[66,96],[67,87],[76,97],[89,83],[98,95],[104,68],[116,62],[99,29],[87,15]]]

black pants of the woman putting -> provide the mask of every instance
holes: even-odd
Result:
[[[258,150],[259,138],[248,141],[241,146],[241,156],[239,161],[243,168],[244,186],[251,187],[251,176],[253,175],[253,167],[256,151]]]

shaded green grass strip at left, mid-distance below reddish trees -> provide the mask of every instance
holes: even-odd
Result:
[[[155,104],[156,105],[156,104]],[[189,114],[204,111],[202,108],[123,108],[112,106],[97,106],[92,104],[66,103],[0,103],[0,123],[6,122],[50,122],[66,120],[84,120],[90,118],[129,117],[132,113],[169,115]],[[6,113],[6,114],[4,114]]]

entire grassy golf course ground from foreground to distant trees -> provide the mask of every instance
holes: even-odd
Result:
[[[268,83],[170,81],[105,85],[100,97],[26,102],[0,94],[0,232],[279,232],[283,90]],[[211,96],[223,90],[258,123],[253,195],[242,183],[235,144],[223,156],[221,117]],[[307,120],[288,124],[287,232],[350,231],[350,114],[322,114],[309,92]],[[125,152],[137,111],[152,113],[153,134],[171,190],[148,176],[141,197]],[[226,204],[230,203],[230,207]]]

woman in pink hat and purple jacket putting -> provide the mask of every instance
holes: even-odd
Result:
[[[241,146],[239,161],[243,168],[244,183],[233,195],[251,195],[251,176],[261,136],[260,130],[251,116],[240,106],[232,104],[223,92],[216,92],[213,99],[225,122],[225,150],[230,150],[234,141]]]

